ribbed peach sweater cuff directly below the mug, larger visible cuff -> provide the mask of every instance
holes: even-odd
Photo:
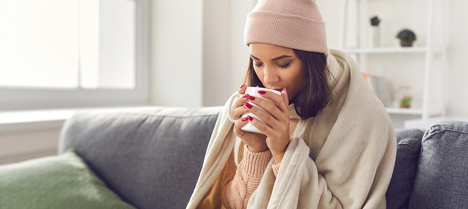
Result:
[[[263,152],[254,153],[249,150],[247,144],[244,144],[244,157],[242,158],[242,165],[239,165],[239,167],[243,167],[242,170],[245,174],[262,176],[272,157],[272,152],[270,152],[269,149]]]

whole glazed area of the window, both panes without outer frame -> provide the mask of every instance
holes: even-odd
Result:
[[[133,0],[0,0],[0,86],[135,88]]]

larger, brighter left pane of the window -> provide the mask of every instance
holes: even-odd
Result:
[[[78,0],[0,0],[0,86],[78,86]]]

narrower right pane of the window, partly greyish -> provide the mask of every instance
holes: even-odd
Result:
[[[135,2],[80,1],[81,86],[135,88]]]

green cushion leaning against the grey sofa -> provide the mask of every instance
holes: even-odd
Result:
[[[134,208],[106,187],[74,150],[0,166],[1,209]]]

